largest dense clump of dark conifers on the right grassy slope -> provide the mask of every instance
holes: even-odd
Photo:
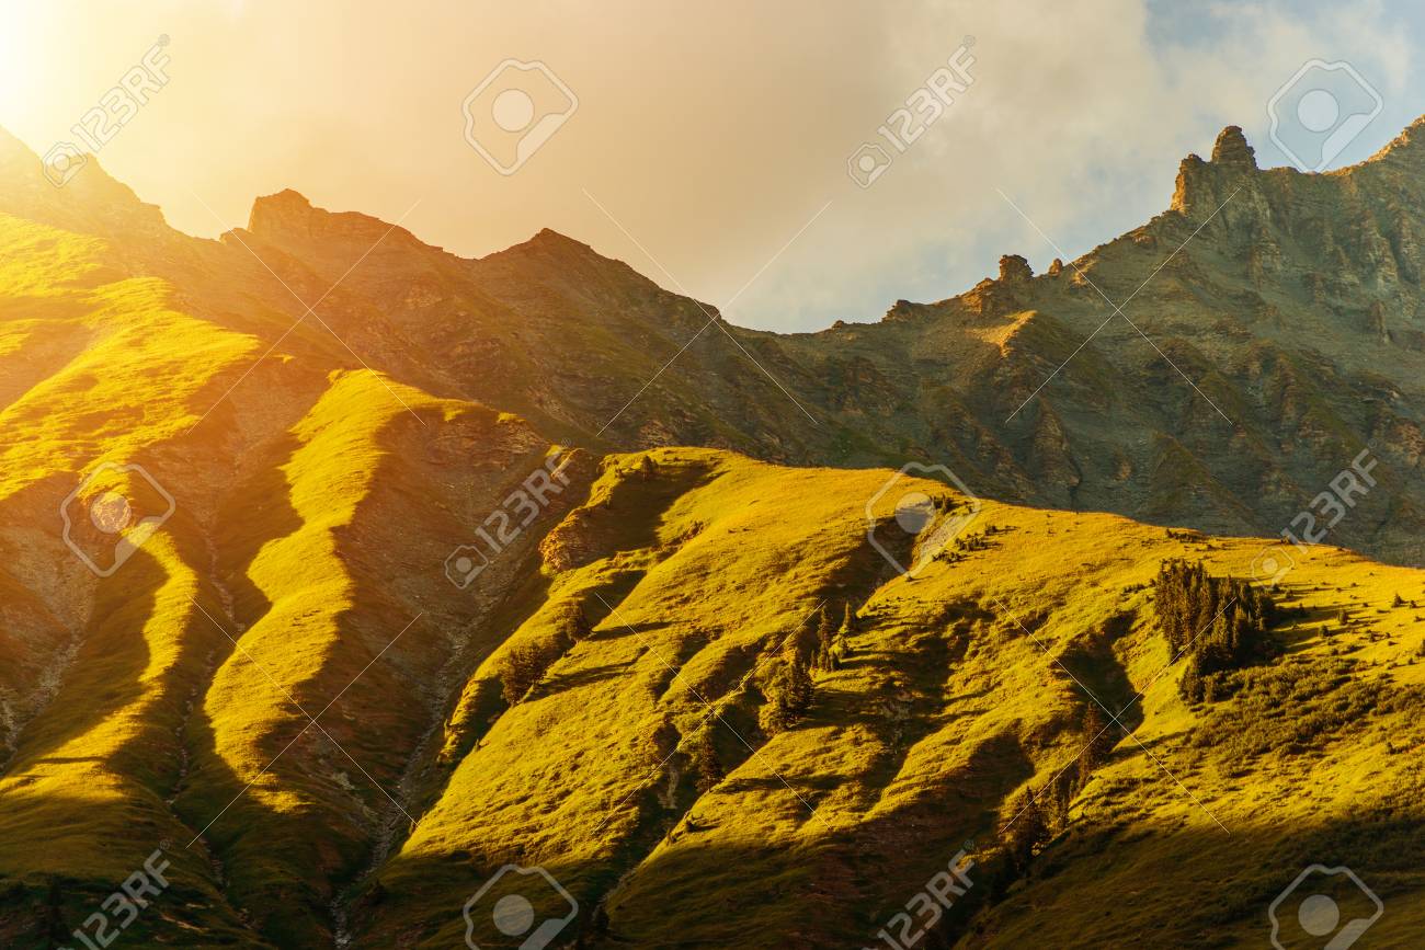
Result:
[[[1183,698],[1213,698],[1213,674],[1270,659],[1277,644],[1267,631],[1277,622],[1271,595],[1234,577],[1211,577],[1201,561],[1164,561],[1153,584],[1159,624],[1176,661],[1187,655],[1178,681]]]

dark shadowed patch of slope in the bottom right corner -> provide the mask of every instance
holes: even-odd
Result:
[[[1027,880],[973,922],[959,946],[1267,946],[1273,903],[1311,866],[1349,867],[1381,899],[1385,913],[1358,946],[1414,946],[1422,829],[1418,816],[1385,812],[1285,825],[1264,816],[1248,828],[1230,822],[1228,830],[1207,819],[1186,828],[1080,823],[1033,860]],[[1300,899],[1315,893],[1340,902],[1342,924],[1374,912],[1344,876],[1307,875],[1278,917],[1284,946],[1322,946],[1325,937],[1312,940],[1297,920]]]

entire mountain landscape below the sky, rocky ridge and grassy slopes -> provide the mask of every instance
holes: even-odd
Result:
[[[553,232],[195,239],[0,135],[0,943],[1260,946],[1321,863],[1408,944],[1416,130],[1227,130],[1079,261],[792,336]],[[1171,640],[1178,560],[1258,652]]]

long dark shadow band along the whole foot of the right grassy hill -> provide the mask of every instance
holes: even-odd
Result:
[[[712,845],[691,835],[646,859],[606,903],[620,879],[608,865],[549,853],[410,863],[403,880],[419,889],[393,887],[363,904],[359,944],[390,946],[399,933],[412,947],[462,946],[462,910],[503,862],[537,865],[570,893],[577,916],[559,937],[589,950],[875,946],[881,929],[901,929],[893,919],[908,906],[911,930],[922,929],[925,900],[916,894],[966,846],[975,859],[968,893],[953,897],[916,947],[1264,946],[1268,907],[1317,863],[1351,867],[1384,902],[1385,916],[1361,946],[1408,946],[1408,902],[1425,886],[1414,860],[1425,846],[1421,823],[1381,815],[1231,832],[1206,822],[1131,833],[1084,825],[1019,876],[988,855],[993,810],[953,786],[940,795],[797,846]],[[532,900],[549,897],[547,884],[532,883],[542,887]],[[1371,904],[1342,907],[1355,916]],[[1404,920],[1392,923],[1392,912]],[[476,904],[470,919],[479,946],[519,946],[494,931],[489,907]]]

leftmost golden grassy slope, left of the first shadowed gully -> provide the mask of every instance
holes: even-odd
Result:
[[[77,926],[164,846],[181,883],[152,926],[231,937],[238,913],[202,849],[182,849],[191,833],[165,800],[185,761],[185,702],[215,648],[191,600],[208,571],[191,546],[194,513],[103,583],[64,547],[58,518],[81,474],[104,463],[142,461],[175,484],[184,469],[185,480],[211,470],[212,460],[174,454],[202,386],[251,340],[174,309],[161,281],[124,278],[103,241],[9,218],[0,242],[0,547],[16,591],[4,631],[14,662],[0,671],[10,748],[0,875],[11,903],[0,933],[9,946],[63,937],[67,919]]]

